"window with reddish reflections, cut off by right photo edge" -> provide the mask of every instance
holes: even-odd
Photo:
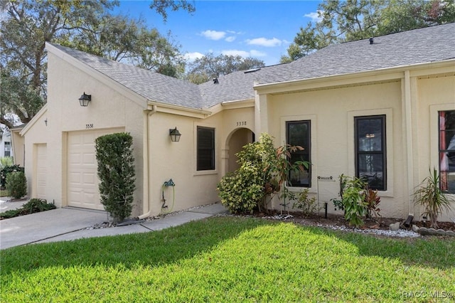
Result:
[[[441,190],[455,193],[455,110],[439,112],[439,174]]]

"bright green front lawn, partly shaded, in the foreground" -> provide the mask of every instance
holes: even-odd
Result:
[[[210,218],[1,250],[0,302],[453,302],[454,252],[453,239]]]

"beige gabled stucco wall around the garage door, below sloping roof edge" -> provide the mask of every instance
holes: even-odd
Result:
[[[92,95],[88,107],[81,107],[78,98],[85,92]],[[134,214],[142,211],[142,134],[145,107],[120,94],[112,85],[100,81],[96,74],[87,75],[75,65],[48,53],[48,110],[25,134],[26,174],[33,178],[33,144],[47,143],[48,179],[47,198],[60,206],[66,201],[66,175],[68,153],[66,138],[69,132],[112,129],[121,127],[132,134],[137,176],[134,194]],[[48,120],[48,126],[44,124]],[[43,120],[43,121],[41,121]],[[29,156],[30,155],[30,156]],[[31,193],[33,196],[33,193]]]

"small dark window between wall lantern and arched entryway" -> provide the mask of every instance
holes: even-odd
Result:
[[[215,169],[215,129],[198,127],[198,171]]]

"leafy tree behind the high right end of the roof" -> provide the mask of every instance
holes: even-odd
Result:
[[[455,22],[453,0],[325,0],[320,20],[300,28],[281,62],[308,55],[333,43],[383,36]]]

